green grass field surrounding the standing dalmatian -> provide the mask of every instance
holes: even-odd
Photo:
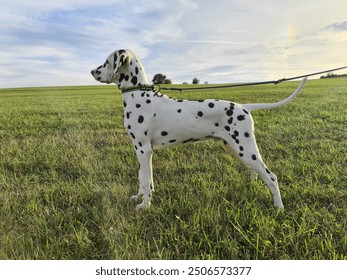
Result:
[[[167,94],[272,102],[297,84]],[[207,141],[156,151],[153,205],[136,213],[115,87],[0,90],[0,259],[347,259],[347,80],[253,116],[284,212]]]

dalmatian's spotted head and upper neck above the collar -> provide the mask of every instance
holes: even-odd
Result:
[[[101,83],[117,84],[120,90],[148,83],[140,59],[130,50],[114,51],[91,74]]]

